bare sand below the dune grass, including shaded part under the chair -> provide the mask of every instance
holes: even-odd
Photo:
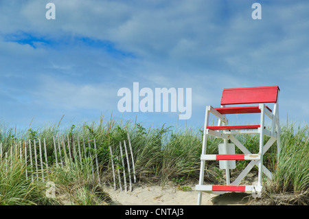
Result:
[[[183,192],[176,185],[139,185],[132,192],[120,192],[113,187],[104,187],[112,199],[111,205],[196,205],[197,194],[194,186]],[[202,205],[245,205],[248,194],[227,193],[223,195],[203,193]]]

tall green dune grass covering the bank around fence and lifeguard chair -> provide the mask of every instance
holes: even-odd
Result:
[[[198,181],[200,168],[201,145],[203,130],[194,128],[168,127],[164,124],[159,128],[145,128],[141,124],[128,121],[116,121],[111,117],[108,121],[100,119],[98,123],[72,124],[62,128],[58,124],[38,129],[27,129],[16,133],[13,128],[0,127],[0,142],[3,144],[3,154],[9,152],[10,147],[19,141],[45,138],[49,172],[45,174],[46,181],[55,181],[59,191],[67,192],[69,202],[75,205],[100,205],[106,196],[98,181],[91,178],[91,169],[81,168],[78,163],[66,162],[64,168],[56,167],[53,136],[70,135],[77,142],[77,137],[84,135],[89,139],[96,139],[98,147],[98,162],[102,183],[112,183],[111,157],[108,147],[113,153],[119,153],[119,141],[127,139],[133,147],[135,171],[137,181],[167,183],[176,179]],[[265,184],[271,192],[301,192],[309,189],[309,130],[307,126],[296,127],[295,124],[282,125],[282,150],[277,159],[277,150],[272,146],[264,155],[264,165],[274,172],[272,183]],[[265,139],[266,141],[267,139]],[[247,135],[240,137],[240,141],[251,152],[258,151],[259,139],[257,136]],[[207,153],[218,153],[218,143],[221,139],[209,137]],[[92,144],[92,142],[91,142]],[[87,151],[94,152],[93,147]],[[240,152],[236,150],[236,152]],[[3,156],[4,159],[4,156]],[[30,181],[25,178],[25,165],[14,160],[10,168],[14,171],[5,171],[5,162],[0,163],[0,204],[1,205],[34,205],[57,204],[45,198],[45,184],[40,181]],[[247,161],[236,163],[237,170],[244,168]],[[205,180],[217,183],[222,173],[218,172],[218,162],[207,162]],[[6,166],[6,168],[8,168]],[[253,168],[252,171],[257,171]],[[47,178],[49,177],[49,178]],[[74,189],[72,189],[74,188]],[[98,196],[102,198],[98,198]],[[9,198],[10,197],[10,198]]]

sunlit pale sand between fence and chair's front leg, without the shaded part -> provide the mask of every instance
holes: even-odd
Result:
[[[177,186],[144,185],[133,187],[133,192],[116,191],[113,187],[104,187],[114,205],[196,205],[197,192],[194,186],[189,192],[183,192]],[[203,193],[203,205],[213,205],[211,198],[216,195]]]

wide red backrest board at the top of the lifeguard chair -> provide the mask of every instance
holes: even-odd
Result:
[[[276,103],[278,86],[223,89],[221,105]]]

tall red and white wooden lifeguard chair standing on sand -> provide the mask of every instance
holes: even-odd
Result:
[[[198,191],[198,205],[201,205],[202,192],[210,192],[215,194],[223,194],[225,192],[251,192],[252,194],[260,194],[262,191],[262,173],[268,178],[273,178],[273,174],[263,165],[263,154],[277,141],[277,154],[280,151],[280,127],[279,127],[279,87],[246,87],[223,89],[221,98],[221,107],[213,108],[206,106],[205,124],[203,133],[203,146],[201,154],[201,171],[199,183],[196,185]],[[273,110],[266,104],[273,103]],[[233,106],[234,104],[258,104],[258,106]],[[209,113],[218,118],[218,126],[209,126]],[[260,113],[260,125],[246,126],[228,126],[227,114],[238,113]],[[264,126],[265,115],[271,119],[271,128]],[[251,152],[242,144],[234,135],[258,134],[260,135],[260,145],[258,154]],[[219,145],[219,154],[207,154],[207,136],[212,135],[223,139],[223,143]],[[270,139],[264,145],[264,135]],[[228,143],[230,140],[233,143]],[[235,154],[235,145],[244,154]],[[229,170],[235,168],[236,160],[251,160],[240,175],[231,183]],[[219,161],[220,168],[225,169],[227,185],[203,185],[205,161]],[[258,183],[256,185],[239,185],[242,178],[246,176],[250,170],[258,166]]]

